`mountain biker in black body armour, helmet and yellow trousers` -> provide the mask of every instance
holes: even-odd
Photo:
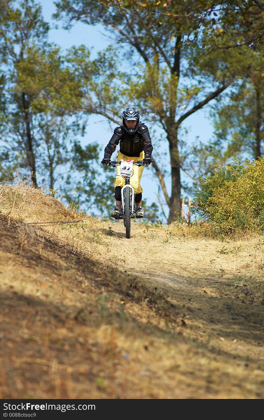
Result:
[[[134,107],[128,107],[122,113],[122,125],[114,129],[109,143],[104,150],[104,159],[101,163],[109,166],[111,155],[116,150],[117,144],[120,142],[120,150],[117,152],[116,160],[143,160],[144,165],[148,166],[151,163],[151,153],[153,146],[151,144],[150,133],[148,127],[140,122],[140,114]],[[135,216],[137,218],[144,217],[142,208],[142,187],[140,180],[144,166],[133,167],[133,174],[130,178],[130,184],[135,189],[135,202],[137,205]],[[120,176],[120,166],[116,166],[116,181],[114,183],[116,199],[116,207],[111,213],[111,217],[115,219],[122,218],[121,210],[121,188],[125,185],[124,178]]]

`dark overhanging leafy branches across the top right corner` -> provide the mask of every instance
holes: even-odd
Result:
[[[109,5],[111,1],[104,2]],[[141,5],[144,11],[152,13],[153,25],[163,25],[168,32],[177,32],[177,25],[183,25],[189,40],[193,39],[194,30],[201,33],[204,42],[215,39],[212,48],[230,49],[243,45],[256,50],[264,42],[264,2],[261,0],[229,1],[123,1]],[[228,37],[226,34],[229,34]]]

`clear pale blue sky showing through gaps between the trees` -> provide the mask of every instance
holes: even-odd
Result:
[[[109,45],[109,39],[103,33],[104,30],[100,26],[88,26],[87,24],[77,23],[73,25],[70,31],[65,31],[65,29],[52,29],[55,24],[59,25],[59,27],[61,26],[60,22],[56,22],[52,19],[52,13],[56,11],[53,0],[39,0],[39,3],[42,6],[45,21],[49,22],[51,26],[51,30],[49,31],[50,42],[56,43],[65,50],[72,47],[72,45],[78,46],[84,44],[90,49],[93,48],[92,56],[95,56],[99,50],[102,50]],[[199,136],[199,139],[203,142],[207,142],[212,136],[212,126],[207,117],[207,112],[208,110],[204,109],[189,116],[186,128],[188,129],[187,142],[190,144],[197,136]],[[121,113],[122,110],[120,110],[120,120]],[[102,149],[104,149],[111,138],[114,127],[115,125],[111,124],[109,126],[109,123],[98,115],[89,116],[87,134],[83,137],[81,142],[87,144],[88,142],[96,141],[101,145]],[[155,154],[155,149],[153,154]],[[184,174],[182,175],[182,178],[187,181]],[[141,184],[145,198],[148,197],[148,204],[156,201],[158,181],[155,182],[154,178],[153,182],[153,173],[148,168],[144,169]],[[170,190],[168,192],[170,193]]]

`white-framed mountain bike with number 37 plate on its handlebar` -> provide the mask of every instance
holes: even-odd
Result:
[[[135,218],[135,190],[130,185],[130,177],[132,176],[133,165],[137,166],[144,166],[143,160],[137,160],[134,162],[133,160],[126,160],[126,161],[110,161],[109,166],[116,167],[120,165],[120,175],[125,180],[125,185],[121,188],[121,210],[122,216],[120,219],[124,220],[124,227],[126,228],[126,238],[130,238],[130,231],[131,231],[131,218]]]

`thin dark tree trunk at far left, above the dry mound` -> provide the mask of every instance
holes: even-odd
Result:
[[[30,115],[29,115],[29,104],[28,100],[26,99],[26,94],[22,92],[21,94],[22,99],[22,106],[24,111],[24,121],[26,127],[26,151],[27,151],[27,159],[28,159],[28,166],[31,171],[31,182],[32,185],[37,188],[37,181],[36,181],[36,161],[35,161],[35,154],[33,150],[33,141],[30,129]]]

